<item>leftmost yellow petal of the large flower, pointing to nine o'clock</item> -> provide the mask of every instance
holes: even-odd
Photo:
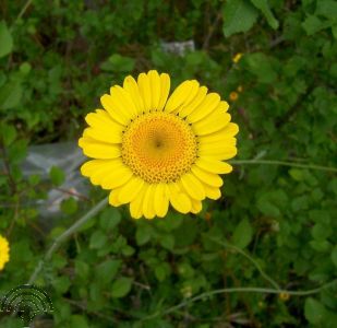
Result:
[[[85,155],[93,159],[116,159],[121,155],[119,145],[99,142],[87,137],[80,138],[79,145]]]

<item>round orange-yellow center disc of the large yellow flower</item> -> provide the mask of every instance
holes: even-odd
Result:
[[[196,153],[196,138],[190,126],[167,113],[137,117],[122,138],[124,164],[149,184],[176,181],[190,171]]]

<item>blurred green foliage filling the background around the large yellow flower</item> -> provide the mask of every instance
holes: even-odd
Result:
[[[111,84],[157,69],[173,86],[197,79],[231,99],[236,160],[257,163],[234,165],[197,215],[133,221],[105,208],[38,274],[55,311],[34,327],[336,327],[336,284],[213,293],[275,289],[264,274],[294,291],[336,279],[336,168],[297,167],[337,166],[336,55],[333,0],[1,0],[0,234],[11,260],[0,295],[106,195],[69,184],[48,155],[47,175],[26,174],[31,147],[62,159],[59,144],[76,142]],[[53,216],[41,213],[52,190],[63,196]],[[22,323],[0,313],[0,326]]]

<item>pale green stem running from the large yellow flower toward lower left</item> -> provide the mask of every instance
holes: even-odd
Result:
[[[94,208],[92,208],[86,214],[84,214],[80,220],[77,220],[73,225],[71,225],[67,231],[64,231],[60,236],[58,236],[52,245],[47,250],[45,257],[38,262],[35,271],[31,276],[28,280],[28,284],[33,284],[44,268],[45,262],[49,261],[53,255],[53,253],[58,249],[58,247],[63,243],[69,236],[79,231],[81,226],[83,226],[88,220],[95,216],[108,203],[108,198],[100,200]]]

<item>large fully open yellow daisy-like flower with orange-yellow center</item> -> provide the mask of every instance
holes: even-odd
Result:
[[[104,109],[88,114],[79,145],[94,160],[81,172],[109,189],[112,206],[130,203],[134,219],[164,218],[169,204],[197,213],[206,197],[218,199],[232,171],[239,131],[228,104],[195,80],[170,95],[170,78],[157,71],[127,77],[101,96]]]

